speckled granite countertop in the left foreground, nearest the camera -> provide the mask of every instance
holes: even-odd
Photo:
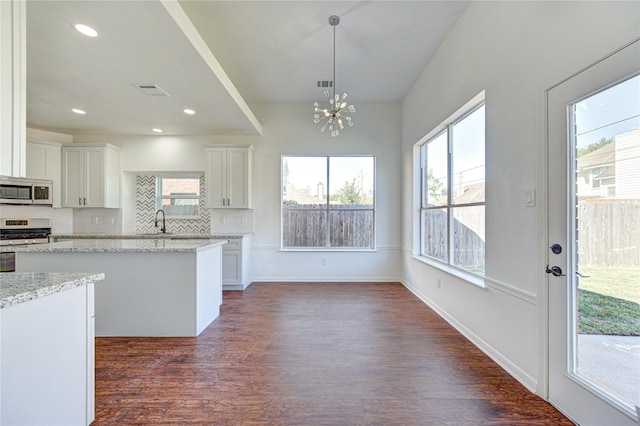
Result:
[[[101,272],[3,272],[0,309],[102,280]]]

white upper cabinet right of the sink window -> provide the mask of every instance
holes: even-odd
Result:
[[[207,207],[250,209],[253,147],[250,145],[205,148]]]

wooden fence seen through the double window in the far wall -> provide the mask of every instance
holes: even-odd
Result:
[[[284,247],[325,247],[327,222],[331,247],[374,247],[373,207],[332,205],[327,220],[325,204],[293,204],[282,209]]]

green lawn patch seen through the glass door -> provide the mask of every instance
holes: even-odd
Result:
[[[578,332],[640,336],[640,268],[585,268],[580,278]]]

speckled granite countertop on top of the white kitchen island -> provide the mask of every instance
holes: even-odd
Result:
[[[11,251],[30,253],[189,253],[227,244],[226,239],[115,239],[86,238],[48,244],[14,246]],[[6,249],[7,247],[3,247]]]

